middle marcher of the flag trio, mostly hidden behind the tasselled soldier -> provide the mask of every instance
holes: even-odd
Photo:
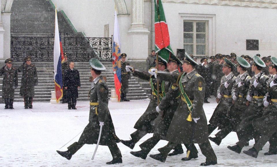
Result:
[[[178,64],[181,62],[175,57],[169,60],[167,63],[167,70],[175,75],[179,75]],[[153,71],[151,75],[155,75],[156,71]],[[175,110],[179,105],[178,90],[179,87],[174,83],[169,83],[166,81],[165,85],[168,87],[168,92],[166,92],[165,97],[162,98],[160,104],[156,107],[156,111],[159,113],[158,117],[154,120],[156,128],[154,134],[151,138],[147,139],[145,142],[140,144],[140,151],[131,151],[130,153],[136,157],[146,159],[147,154],[154,148],[154,146],[160,141],[165,140],[166,134],[171,123],[172,117]],[[175,85],[175,86],[174,86]],[[181,144],[175,147],[174,153],[170,155],[177,155],[184,153]]]

